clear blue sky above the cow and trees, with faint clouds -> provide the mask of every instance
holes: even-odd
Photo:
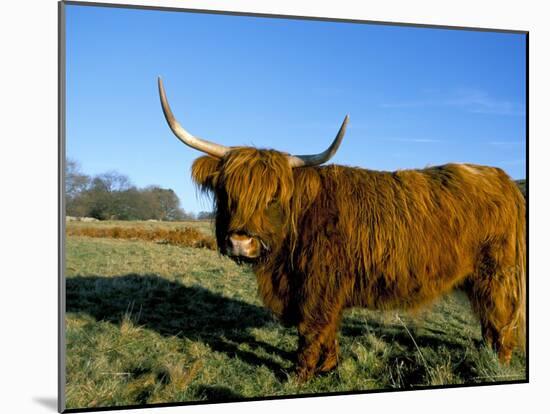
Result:
[[[303,154],[350,125],[331,162],[470,162],[525,177],[525,35],[67,6],[67,156],[210,210],[200,155],[160,108],[224,145]]]

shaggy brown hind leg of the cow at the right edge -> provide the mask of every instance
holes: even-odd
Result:
[[[506,255],[506,245],[487,248],[476,271],[466,282],[466,291],[481,322],[485,342],[498,353],[502,363],[509,363],[518,345],[517,330],[523,306],[518,269]]]

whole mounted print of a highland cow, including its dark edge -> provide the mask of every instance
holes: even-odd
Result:
[[[527,32],[59,10],[60,411],[528,381]]]

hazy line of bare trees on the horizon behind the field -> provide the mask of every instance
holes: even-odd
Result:
[[[172,189],[159,186],[138,188],[130,179],[109,171],[89,176],[77,161],[68,159],[65,168],[66,214],[98,220],[188,220],[194,219],[180,207]],[[200,218],[208,215],[199,213]]]

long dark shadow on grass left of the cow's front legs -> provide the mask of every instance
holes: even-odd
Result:
[[[130,313],[136,324],[161,335],[201,341],[250,365],[265,365],[279,380],[287,377],[281,364],[239,349],[239,345],[247,344],[291,360],[291,353],[257,341],[248,332],[249,328],[273,323],[271,314],[262,307],[200,286],[187,287],[157,275],[138,274],[71,277],[66,281],[66,298],[67,312],[87,313],[114,324],[120,324]]]

